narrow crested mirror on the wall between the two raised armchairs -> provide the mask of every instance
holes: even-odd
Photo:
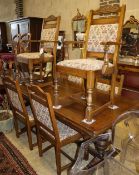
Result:
[[[77,9],[77,15],[72,18],[73,41],[83,41],[86,31],[86,17]],[[81,48],[82,44],[73,44],[73,48]]]

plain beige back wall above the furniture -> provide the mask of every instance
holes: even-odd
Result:
[[[16,18],[15,0],[0,0],[0,21]],[[90,9],[96,9],[100,0],[23,0],[24,16],[46,17],[48,15],[61,15],[61,30],[66,30],[69,38],[71,33],[71,19],[79,8],[82,14],[87,14]],[[103,0],[107,1],[107,0]],[[139,19],[139,0],[120,0],[126,3],[126,19],[135,15]]]

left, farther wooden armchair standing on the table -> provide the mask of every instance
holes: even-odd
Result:
[[[39,42],[40,47],[37,52],[25,52],[17,55],[17,62],[24,63],[28,65],[30,73],[30,81],[32,81],[33,66],[37,65],[37,68],[40,71],[41,79],[44,74],[46,74],[46,63],[52,63],[51,74],[55,74],[56,66],[56,51],[57,51],[57,41],[59,35],[60,27],[60,16],[49,16],[48,18],[43,19],[41,39],[40,40],[30,40],[29,42]],[[28,40],[23,40],[23,42],[28,42]],[[21,44],[21,43],[20,43]],[[31,65],[29,65],[31,64]]]

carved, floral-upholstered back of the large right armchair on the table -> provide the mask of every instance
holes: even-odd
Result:
[[[90,11],[85,40],[84,57],[104,58],[104,43],[116,42],[108,50],[108,57],[117,63],[119,44],[121,41],[122,24],[125,14],[123,6],[104,6],[99,10]]]

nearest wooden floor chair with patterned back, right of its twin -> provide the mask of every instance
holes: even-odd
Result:
[[[65,155],[69,160],[73,160],[67,153],[63,152],[61,148],[69,143],[76,142],[81,138],[81,135],[56,119],[49,93],[44,92],[40,87],[35,85],[28,86],[28,92],[37,126],[39,155],[42,156],[44,151],[54,147],[57,174],[60,175],[62,170],[71,165],[70,163],[61,167],[60,153]],[[50,146],[44,149],[42,149],[43,139],[51,143]]]

